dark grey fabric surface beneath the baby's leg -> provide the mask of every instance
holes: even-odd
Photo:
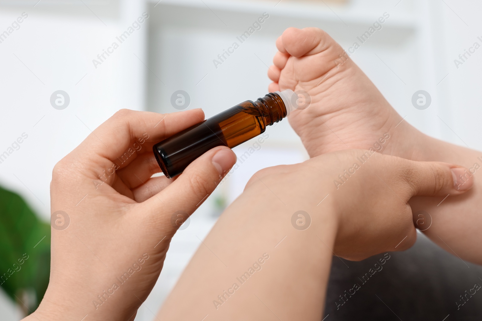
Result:
[[[481,285],[481,266],[462,261],[418,233],[415,245],[403,252],[360,262],[333,257],[323,317],[328,315],[325,321],[480,321]]]

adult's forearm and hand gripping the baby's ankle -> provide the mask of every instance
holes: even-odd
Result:
[[[203,241],[159,319],[320,321],[334,253],[361,260],[407,249],[416,239],[408,200],[464,192],[448,164],[379,153],[361,164],[365,153],[332,152],[257,172]],[[333,180],[354,163],[361,167],[337,189]],[[311,218],[306,230],[293,223],[299,210]]]

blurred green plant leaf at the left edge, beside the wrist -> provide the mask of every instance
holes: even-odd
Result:
[[[49,275],[50,225],[19,195],[0,187],[0,286],[14,301],[27,305],[27,311],[34,311]],[[35,295],[28,299],[31,293]]]

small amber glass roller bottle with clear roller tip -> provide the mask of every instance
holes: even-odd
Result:
[[[196,158],[216,146],[233,148],[262,134],[294,108],[294,92],[268,93],[246,101],[187,128],[153,146],[154,155],[168,178],[181,174]]]

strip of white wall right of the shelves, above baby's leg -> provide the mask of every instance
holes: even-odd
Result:
[[[459,65],[458,69],[454,63],[455,59],[460,61],[458,55],[469,50],[474,42],[482,46],[482,40],[477,38],[482,39],[482,22],[478,16],[482,4],[472,1],[448,3],[455,13],[445,6],[443,15],[440,16],[445,26],[439,33],[439,45],[445,55],[439,66],[448,74],[440,85],[441,90],[447,91],[448,108],[440,116],[453,131],[443,125],[446,128],[444,138],[462,146],[466,146],[466,143],[470,148],[482,150],[479,134],[482,119],[482,49],[478,49],[470,57],[466,56],[469,59]]]

